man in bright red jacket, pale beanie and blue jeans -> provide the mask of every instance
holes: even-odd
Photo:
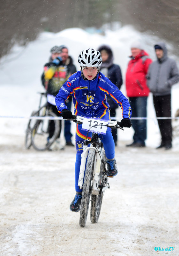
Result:
[[[147,116],[147,97],[149,89],[146,85],[146,74],[152,60],[143,50],[141,43],[135,41],[131,44],[131,60],[126,71],[126,91],[132,109],[132,117]],[[146,119],[132,120],[134,129],[133,142],[127,147],[145,147],[147,137]]]

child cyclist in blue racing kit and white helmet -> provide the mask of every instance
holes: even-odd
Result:
[[[80,52],[78,63],[81,70],[71,75],[56,95],[56,107],[62,113],[63,119],[72,119],[72,112],[65,105],[65,100],[71,95],[74,104],[74,114],[84,117],[102,118],[110,120],[107,95],[122,109],[123,119],[121,127],[131,127],[131,106],[128,99],[105,75],[99,72],[102,63],[101,53],[89,48]],[[82,190],[78,187],[78,177],[83,152],[83,141],[86,140],[87,131],[81,129],[82,124],[76,126],[76,163],[75,163],[75,190],[76,195],[70,204],[70,210],[78,212],[81,206]],[[111,128],[107,128],[105,135],[101,136],[107,161],[107,175],[117,175],[115,159],[115,144]],[[78,147],[80,145],[80,147]],[[82,146],[81,146],[82,145]]]

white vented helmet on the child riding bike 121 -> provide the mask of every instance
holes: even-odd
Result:
[[[89,48],[80,52],[78,63],[81,67],[99,67],[102,63],[101,53]]]

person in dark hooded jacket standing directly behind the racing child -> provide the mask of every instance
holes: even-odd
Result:
[[[123,84],[123,78],[121,74],[121,69],[119,65],[113,64],[113,52],[111,48],[107,45],[101,45],[98,49],[101,53],[102,64],[100,66],[100,72],[102,72],[106,77],[108,77],[111,82],[113,82],[118,89],[121,88]],[[107,101],[110,105],[110,116],[116,116],[116,109],[118,105],[111,99],[107,97]],[[111,119],[112,120],[112,119]],[[112,129],[112,136],[114,139],[115,146],[117,145],[117,129]]]

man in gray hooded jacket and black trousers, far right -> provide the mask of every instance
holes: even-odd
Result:
[[[154,61],[147,73],[147,86],[153,93],[153,105],[156,116],[168,117],[158,119],[161,134],[161,144],[157,149],[172,147],[171,122],[171,87],[179,81],[179,71],[175,60],[168,58],[165,43],[154,45],[157,60]]]

